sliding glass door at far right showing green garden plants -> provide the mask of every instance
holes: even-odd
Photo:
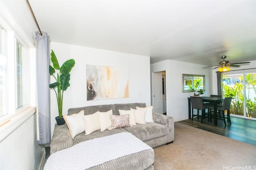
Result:
[[[256,73],[225,74],[223,96],[232,97],[230,113],[256,119]]]

